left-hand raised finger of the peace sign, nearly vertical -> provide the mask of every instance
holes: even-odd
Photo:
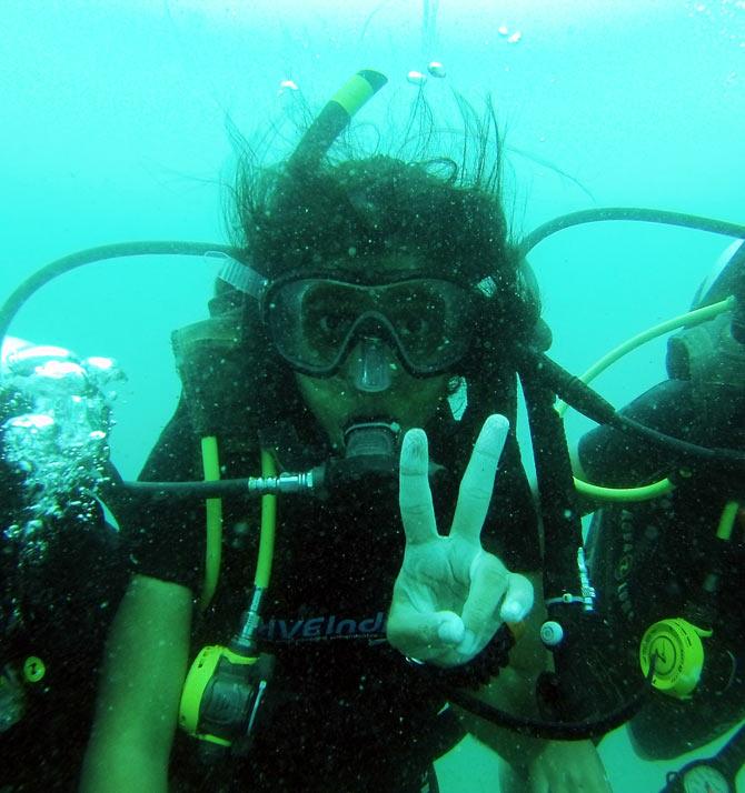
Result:
[[[424,430],[409,430],[401,444],[398,503],[407,543],[437,536],[437,521],[429,489],[429,445]]]

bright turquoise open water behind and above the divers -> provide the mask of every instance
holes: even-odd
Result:
[[[418,91],[456,128],[453,91],[477,108],[490,93],[518,239],[595,207],[745,219],[742,1],[3,0],[0,31],[1,300],[80,249],[226,242],[229,126],[248,137],[275,126],[287,154],[297,135],[286,119],[301,102],[320,109],[360,68],[389,79],[354,122],[384,140],[405,128]],[[550,238],[530,262],[553,357],[579,373],[682,313],[731,242],[627,222]],[[170,331],[206,315],[216,271],[178,257],[97,263],[46,287],[10,328],[116,359],[128,379],[111,448],[126,478],[178,398]],[[596,387],[616,405],[629,401],[665,379],[664,344]],[[569,416],[570,439],[588,425]],[[643,762],[623,730],[600,751],[620,793],[657,791],[688,760]],[[439,763],[443,793],[495,791],[495,770],[467,740]]]

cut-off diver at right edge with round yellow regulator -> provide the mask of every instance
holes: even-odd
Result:
[[[732,293],[738,298],[732,310],[668,340],[669,379],[634,400],[626,415],[693,443],[745,450],[742,241],[725,251],[692,310]],[[593,482],[608,486],[669,475],[667,460],[606,426],[582,439],[579,460]],[[628,725],[635,751],[650,760],[694,751],[745,717],[742,471],[687,461],[674,478],[676,486],[660,498],[604,506],[588,536],[598,611],[612,625],[608,676],[628,690],[639,654],[643,663],[653,651],[663,659],[654,695]],[[745,760],[742,749],[738,756]],[[706,772],[697,767],[703,784]],[[734,791],[734,774],[731,787],[711,784]]]

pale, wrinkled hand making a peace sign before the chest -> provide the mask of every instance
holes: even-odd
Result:
[[[437,532],[424,430],[409,430],[400,458],[399,503],[406,533],[394,585],[388,641],[401,653],[439,666],[470,661],[503,622],[533,606],[533,586],[481,548],[480,534],[509,422],[490,415],[474,446],[448,536]]]

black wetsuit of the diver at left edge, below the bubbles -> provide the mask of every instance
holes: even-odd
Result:
[[[46,667],[38,682],[21,683],[22,716],[0,731],[0,791],[71,793],[127,568],[100,511],[95,520],[80,521],[74,510],[48,518],[43,549],[23,552],[4,534],[27,514],[21,484],[1,460],[0,471],[0,665],[19,681],[27,659]]]

